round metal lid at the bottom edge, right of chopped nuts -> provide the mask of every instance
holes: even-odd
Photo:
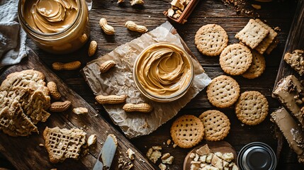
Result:
[[[237,156],[237,164],[242,170],[274,170],[277,159],[269,145],[252,142],[241,149]]]

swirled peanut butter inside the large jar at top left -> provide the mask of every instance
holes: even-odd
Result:
[[[77,0],[26,0],[23,3],[26,22],[42,33],[58,33],[77,18]]]

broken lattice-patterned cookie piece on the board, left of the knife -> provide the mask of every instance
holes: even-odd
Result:
[[[81,147],[86,142],[86,132],[77,128],[45,128],[43,138],[50,162],[57,163],[67,158],[78,159]]]

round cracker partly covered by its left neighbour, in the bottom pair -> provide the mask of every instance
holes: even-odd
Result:
[[[204,139],[209,141],[223,140],[229,133],[230,120],[227,116],[216,110],[209,110],[202,113],[199,118],[204,126]]]

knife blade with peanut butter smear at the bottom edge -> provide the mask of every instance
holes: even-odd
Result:
[[[93,170],[110,169],[117,148],[115,135],[108,135],[99,153]]]

